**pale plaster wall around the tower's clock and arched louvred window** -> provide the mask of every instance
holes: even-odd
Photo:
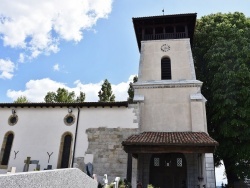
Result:
[[[170,50],[163,52],[167,44]],[[189,39],[153,40],[141,42],[139,81],[161,80],[161,59],[171,60],[172,80],[195,80],[192,52]]]

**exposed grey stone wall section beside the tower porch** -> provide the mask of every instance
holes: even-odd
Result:
[[[86,130],[89,146],[86,154],[93,154],[94,174],[103,177],[108,175],[109,182],[115,177],[126,178],[127,153],[122,148],[122,141],[138,129],[129,128],[89,128]]]

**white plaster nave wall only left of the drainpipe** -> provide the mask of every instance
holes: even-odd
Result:
[[[0,110],[0,144],[6,132],[14,132],[14,140],[9,158],[8,167],[17,167],[17,172],[22,172],[24,160],[29,156],[31,160],[39,160],[41,169],[52,165],[57,168],[57,160],[61,136],[65,132],[70,132],[74,138],[75,124],[66,126],[63,122],[68,114],[67,108],[15,108],[18,122],[14,126],[8,124],[11,109]],[[75,113],[74,113],[75,114]],[[76,115],[76,114],[75,114]],[[14,159],[14,151],[19,151]],[[47,152],[53,154],[48,163]],[[30,170],[34,170],[35,165],[30,165]]]

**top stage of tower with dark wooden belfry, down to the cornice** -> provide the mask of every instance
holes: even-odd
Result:
[[[196,79],[191,53],[195,22],[196,13],[133,18],[140,81]]]

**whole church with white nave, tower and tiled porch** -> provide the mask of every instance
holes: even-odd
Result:
[[[215,188],[218,142],[195,75],[195,23],[196,13],[133,18],[132,103],[0,103],[0,173],[76,167],[133,188]]]

